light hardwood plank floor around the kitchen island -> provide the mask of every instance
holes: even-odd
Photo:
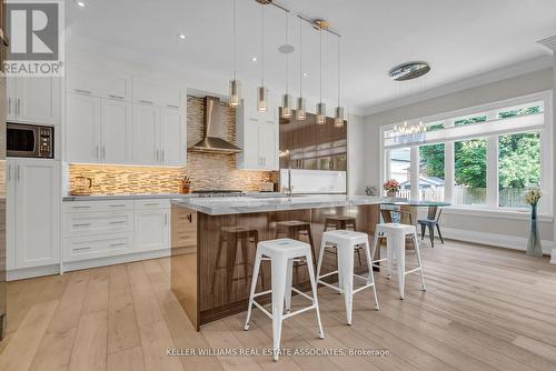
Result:
[[[408,277],[376,274],[345,324],[341,295],[319,289],[326,339],[315,314],[285,321],[282,348],[387,349],[388,357],[168,357],[167,349],[269,348],[271,323],[254,311],[196,332],[159,259],[8,285],[8,338],[0,370],[556,370],[556,267],[523,252],[447,242],[424,248],[427,292]],[[414,255],[408,252],[408,260]],[[294,304],[302,304],[294,298]]]

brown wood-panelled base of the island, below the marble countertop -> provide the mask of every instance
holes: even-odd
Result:
[[[312,240],[316,263],[327,217],[353,217],[357,231],[368,233],[371,239],[379,208],[376,203],[211,215],[172,204],[171,289],[199,330],[201,324],[247,309],[257,242],[284,237],[307,243]],[[189,219],[197,221],[196,228],[191,228],[191,222],[187,225]],[[291,221],[308,223],[311,239],[304,229],[289,229],[290,223],[284,223]],[[173,238],[175,234],[197,241],[196,251],[185,250],[179,244],[181,240]],[[336,255],[325,253],[322,273],[336,270]],[[359,273],[367,272],[365,257],[360,263],[356,254],[355,267]],[[332,280],[336,280],[336,275]],[[294,284],[304,291],[309,288],[305,263],[295,265]],[[267,261],[261,265],[257,291],[269,290],[270,287],[270,262]],[[269,301],[270,295],[260,298],[262,303]]]

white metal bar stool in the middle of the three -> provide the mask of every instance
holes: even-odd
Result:
[[[320,268],[322,267],[322,259],[325,255],[325,247],[327,244],[336,245],[336,250],[338,252],[338,270],[320,275]],[[364,250],[366,253],[367,267],[369,269],[368,277],[363,277],[354,273],[354,251],[360,245],[364,245]],[[322,233],[322,241],[320,243],[320,251],[317,263],[317,282],[344,294],[344,301],[346,303],[346,318],[348,324],[351,324],[351,311],[355,293],[364,289],[373,288],[373,293],[375,295],[375,309],[379,309],[375,277],[373,275],[373,260],[370,257],[369,237],[367,235],[367,233],[346,230],[335,230]],[[321,280],[325,277],[329,277],[336,273],[338,273],[337,287]],[[365,280],[366,284],[354,290],[354,277]]]

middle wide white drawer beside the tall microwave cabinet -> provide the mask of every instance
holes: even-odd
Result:
[[[133,211],[78,212],[63,215],[63,237],[132,232]]]

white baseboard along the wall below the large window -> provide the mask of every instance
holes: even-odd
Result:
[[[525,251],[527,249],[527,238],[517,235],[506,235],[488,232],[475,232],[455,228],[441,228],[443,237],[457,241],[488,244],[498,248]],[[553,241],[543,240],[543,253],[553,253],[552,263],[556,263],[555,247]]]

